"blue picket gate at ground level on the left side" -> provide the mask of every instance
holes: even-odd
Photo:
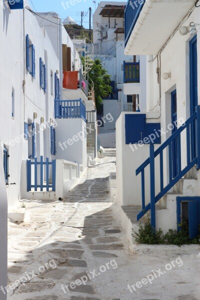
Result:
[[[34,170],[33,176],[31,172],[31,165],[33,165],[33,170]],[[49,165],[52,166],[52,184],[49,184]],[[45,166],[46,184],[44,184],[44,166]],[[49,161],[48,158],[46,158],[46,161],[43,161],[43,156],[40,156],[40,161],[37,161],[37,158],[34,158],[34,161],[27,159],[26,160],[27,191],[31,191],[31,188],[34,188],[34,191],[37,191],[38,190],[37,188],[39,188],[40,191],[43,191],[43,188],[46,188],[46,191],[49,191],[49,188],[52,188],[52,191],[55,191],[55,169],[56,169],[55,159]],[[40,175],[38,176],[38,174]],[[31,184],[32,182],[34,184]]]

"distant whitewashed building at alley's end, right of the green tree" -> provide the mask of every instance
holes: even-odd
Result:
[[[103,99],[101,118],[107,113],[113,122],[99,127],[100,143],[115,147],[115,122],[122,111],[145,111],[145,57],[124,54],[124,5],[126,2],[100,1],[93,14],[94,58],[111,75],[112,93]]]

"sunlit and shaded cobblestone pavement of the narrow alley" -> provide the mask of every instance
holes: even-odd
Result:
[[[108,202],[113,160],[98,159],[63,202],[24,201],[28,222],[8,223],[8,299],[200,299],[199,247],[128,249]],[[127,288],[180,255],[182,266]]]

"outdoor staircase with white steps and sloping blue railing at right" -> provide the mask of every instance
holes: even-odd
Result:
[[[175,175],[173,175],[172,159],[172,147],[174,142],[177,142],[178,164],[177,173]],[[182,145],[184,145],[183,149],[181,149]],[[191,115],[163,144],[161,144],[158,149],[154,151],[153,144],[150,144],[149,148],[149,158],[136,169],[136,175],[141,173],[142,202],[142,209],[137,214],[137,220],[141,219],[144,214],[150,210],[151,226],[154,228],[160,227],[164,229],[164,231],[167,231],[169,228],[177,225],[180,217],[178,197],[182,197],[182,200],[184,200],[183,197],[185,197],[185,201],[188,202],[189,200],[197,201],[197,198],[190,197],[197,197],[200,195],[198,181],[200,177],[198,175],[199,171],[196,171],[196,169],[199,169],[200,167],[200,106],[198,105],[196,107],[194,114]],[[169,177],[165,184],[164,176],[166,174],[163,172],[163,158],[165,158],[167,164]],[[150,202],[148,204],[145,203],[146,167],[150,168]],[[158,192],[155,192],[155,170],[156,174],[159,173],[160,178],[160,188]],[[181,201],[181,199],[179,199],[179,201]],[[188,209],[191,208],[191,214],[193,215],[195,214],[195,209],[193,209],[195,206],[194,204],[196,205],[194,202],[188,204]]]

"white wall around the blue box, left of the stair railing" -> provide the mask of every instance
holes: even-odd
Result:
[[[137,146],[134,151],[129,144],[125,144],[125,114],[138,114],[138,112],[122,112],[116,122],[116,186],[117,199],[120,205],[141,205],[141,175],[135,175],[137,167],[149,157],[149,145]],[[147,118],[157,117],[157,113],[146,113]],[[148,119],[147,122],[159,122],[159,119]],[[134,130],[134,128],[132,128]],[[159,146],[155,145],[155,149]],[[155,169],[155,190],[159,187],[159,174]],[[145,196],[146,204],[149,202],[149,168],[145,168]]]

